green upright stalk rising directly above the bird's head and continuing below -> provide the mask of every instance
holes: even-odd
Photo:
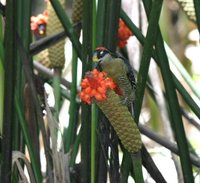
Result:
[[[104,45],[105,41],[105,24],[106,24],[106,2],[107,0],[98,1],[97,13],[96,13],[96,46]],[[94,26],[94,25],[93,25]],[[94,31],[94,29],[93,29]],[[97,148],[96,148],[96,182],[106,182],[107,181],[107,156],[108,156],[108,143],[109,134],[107,129],[107,119],[102,114],[101,111],[98,113],[97,121]]]

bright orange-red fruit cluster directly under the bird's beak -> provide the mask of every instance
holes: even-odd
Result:
[[[87,72],[82,80],[82,91],[79,96],[87,104],[91,104],[93,99],[104,101],[107,98],[107,90],[115,90],[116,87],[114,81],[107,77],[105,72],[99,72],[97,69],[94,69],[91,72]]]

